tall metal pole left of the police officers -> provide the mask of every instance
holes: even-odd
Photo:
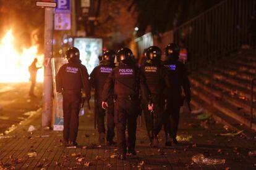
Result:
[[[43,112],[42,127],[51,126],[52,117],[52,93],[53,77],[51,71],[51,58],[53,57],[53,10],[54,8],[45,8],[45,62],[44,62],[44,82],[43,82]]]

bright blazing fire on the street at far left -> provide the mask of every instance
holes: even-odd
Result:
[[[14,48],[14,41],[17,39],[14,39],[12,30],[9,30],[0,42],[0,82],[28,82],[30,78],[28,67],[33,60],[38,59],[37,67],[43,65],[43,54],[37,54],[37,46],[23,48],[22,54],[19,54]],[[36,81],[43,82],[43,68],[37,71]]]

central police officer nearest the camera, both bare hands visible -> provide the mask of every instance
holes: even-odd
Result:
[[[109,74],[103,89],[102,107],[108,107],[106,102],[109,92],[114,88],[115,123],[117,126],[117,147],[119,158],[126,159],[128,153],[136,155],[135,140],[137,116],[139,114],[139,94],[145,101],[148,101],[148,109],[152,110],[150,94],[142,71],[135,65],[132,51],[122,48],[117,52],[117,62],[119,65]],[[126,124],[128,128],[128,140],[126,144]]]

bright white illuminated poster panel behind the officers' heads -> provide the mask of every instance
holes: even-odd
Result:
[[[74,47],[80,51],[80,60],[87,68],[88,74],[99,64],[102,55],[103,41],[101,38],[74,38]]]

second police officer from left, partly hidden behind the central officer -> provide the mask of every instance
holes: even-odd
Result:
[[[90,74],[90,84],[95,89],[95,116],[96,123],[99,132],[99,143],[105,143],[105,110],[101,107],[102,102],[102,91],[109,73],[114,68],[114,59],[116,57],[116,52],[112,50],[105,51],[100,61],[100,65],[95,67]],[[107,100],[108,108],[106,109],[107,113],[107,145],[114,145],[114,102],[113,102],[114,91]]]

